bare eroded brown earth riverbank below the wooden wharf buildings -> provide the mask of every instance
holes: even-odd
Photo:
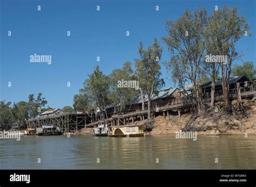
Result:
[[[198,134],[256,134],[256,106],[253,100],[242,100],[247,116],[239,111],[237,100],[232,101],[233,113],[224,112],[224,102],[215,104],[214,109],[207,109],[196,118],[192,114],[183,114],[181,118],[171,116],[169,120],[163,116],[154,118],[154,128],[149,134],[175,134],[180,130],[197,131]],[[135,125],[144,124],[146,120],[136,121]],[[92,134],[92,128],[84,128],[77,134]]]

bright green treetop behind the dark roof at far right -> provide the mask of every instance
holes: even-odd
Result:
[[[242,65],[235,64],[232,69],[232,76],[245,75],[250,80],[255,78],[253,62],[244,62]]]

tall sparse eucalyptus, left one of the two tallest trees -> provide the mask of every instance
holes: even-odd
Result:
[[[168,37],[163,37],[171,53],[171,60],[165,63],[171,71],[174,83],[186,90],[191,82],[196,95],[196,108],[201,112],[201,98],[199,80],[205,75],[204,68],[204,28],[207,19],[205,9],[194,12],[186,10],[177,20],[167,20],[166,30]],[[194,102],[193,98],[191,102]]]

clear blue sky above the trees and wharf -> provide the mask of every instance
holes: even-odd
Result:
[[[169,60],[161,40],[167,36],[165,20],[177,19],[185,9],[205,7],[212,12],[215,5],[238,6],[239,15],[251,26],[252,37],[243,37],[237,48],[244,53],[244,61],[255,64],[254,1],[0,1],[0,100],[6,102],[27,101],[29,94],[42,92],[50,107],[72,106],[73,95],[79,93],[97,64],[110,74],[126,61],[133,63],[139,57],[140,40],[146,46],[156,37],[164,48],[162,61]],[[37,11],[37,5],[41,5],[41,11]],[[30,63],[30,55],[35,53],[51,55],[52,63]],[[170,75],[164,66],[162,73],[166,87],[174,86],[167,80]]]

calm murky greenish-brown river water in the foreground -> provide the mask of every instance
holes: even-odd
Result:
[[[256,169],[256,135],[21,136],[0,139],[0,169]]]

